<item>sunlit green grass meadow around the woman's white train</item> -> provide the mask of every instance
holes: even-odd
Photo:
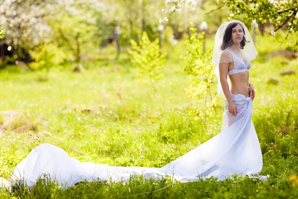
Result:
[[[250,82],[256,90],[252,120],[263,153],[261,175],[269,174],[268,181],[209,179],[162,189],[172,182],[140,179],[126,185],[79,183],[66,191],[40,181],[30,191],[19,187],[12,193],[0,191],[1,196],[298,198],[298,187],[292,188],[289,180],[292,173],[298,173],[298,74],[279,74],[287,69],[298,72],[298,61],[268,58],[283,47],[271,37],[258,40],[265,47],[257,45],[260,56],[252,61],[250,69]],[[207,48],[212,43],[208,39]],[[165,77],[155,83],[156,93],[148,81],[134,75],[126,53],[118,62],[103,58],[86,62],[82,73],[71,73],[69,65],[53,68],[48,75],[15,66],[0,71],[0,111],[17,112],[9,128],[0,133],[0,175],[9,180],[12,169],[34,147],[26,132],[12,131],[23,124],[32,124],[42,143],[57,145],[79,161],[115,166],[161,167],[218,134],[224,99],[218,99],[222,109],[207,125],[189,114],[199,104],[184,93],[189,77],[178,56],[186,49],[180,42],[173,48],[165,46],[165,50],[169,53]],[[271,77],[279,84],[271,84]],[[0,116],[4,122],[7,119]]]

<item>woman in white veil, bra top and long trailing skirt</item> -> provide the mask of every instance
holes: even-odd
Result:
[[[44,177],[43,174],[64,187],[85,180],[126,181],[134,174],[148,178],[171,175],[181,182],[212,176],[224,180],[234,173],[249,176],[258,174],[262,170],[262,153],[251,120],[255,92],[248,82],[248,69],[251,67],[249,61],[257,54],[248,29],[241,21],[225,22],[219,27],[213,63],[218,77],[218,93],[225,98],[222,131],[164,167],[118,167],[80,163],[57,146],[41,144],[16,166],[12,181],[2,179],[2,184],[9,187],[22,180],[32,186],[38,178]],[[268,176],[259,177],[266,179]]]

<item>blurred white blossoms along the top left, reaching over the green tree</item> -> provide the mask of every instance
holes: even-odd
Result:
[[[62,15],[66,12],[70,15],[80,15],[82,20],[95,24],[96,18],[92,17],[91,13],[84,12],[82,7],[96,11],[103,7],[103,3],[98,0],[47,0],[39,1],[39,3],[32,0],[1,1],[0,28],[5,28],[7,32],[5,40],[1,43],[18,45],[25,41],[28,47],[40,44],[51,34],[48,17],[56,13]]]

